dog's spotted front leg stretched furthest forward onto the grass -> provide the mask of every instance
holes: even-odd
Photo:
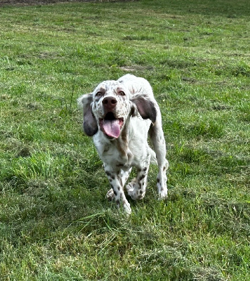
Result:
[[[126,214],[131,214],[130,204],[126,200],[126,197],[124,195],[124,188],[123,183],[121,181],[120,171],[113,171],[112,169],[110,169],[110,166],[105,165],[105,173],[107,175],[108,180],[110,181],[110,186],[113,191],[112,192],[110,190],[108,194],[110,193],[110,196],[114,198],[117,204],[117,208],[124,209]]]

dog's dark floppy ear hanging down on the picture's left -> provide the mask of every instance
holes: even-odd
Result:
[[[92,93],[86,93],[84,96],[81,96],[77,100],[79,107],[84,110],[84,132],[87,136],[93,136],[98,131],[98,124],[91,110],[92,102]]]

